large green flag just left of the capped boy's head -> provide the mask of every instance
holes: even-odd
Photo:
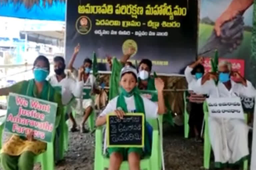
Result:
[[[120,63],[115,57],[112,61],[112,72],[110,76],[109,82],[109,100],[115,98],[119,95],[119,79],[120,79],[120,72],[123,68],[122,63]]]

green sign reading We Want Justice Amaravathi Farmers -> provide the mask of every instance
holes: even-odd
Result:
[[[19,136],[33,130],[35,139],[51,142],[56,112],[57,103],[10,93],[4,130]]]

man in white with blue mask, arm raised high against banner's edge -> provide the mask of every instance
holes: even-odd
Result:
[[[78,79],[78,71],[73,67],[74,61],[76,59],[76,56],[78,54],[80,50],[80,45],[78,44],[75,49],[74,49],[74,53],[69,61],[69,65],[68,68],[70,69],[71,73],[73,74],[75,79]],[[82,66],[80,67],[80,70],[82,70],[82,80],[84,82],[84,86],[89,86],[92,87],[93,89],[93,84],[95,82],[95,77],[90,74],[92,68],[92,60],[89,58],[86,58],[82,64]],[[89,130],[85,129],[84,125],[85,122],[87,121],[88,117],[90,116],[90,114],[93,111],[93,102],[92,99],[78,99],[78,105],[77,105],[77,112],[79,114],[83,114],[83,120],[80,124],[80,131],[81,133],[87,133],[89,132]]]

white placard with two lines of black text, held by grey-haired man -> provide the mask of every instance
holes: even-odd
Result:
[[[206,99],[209,116],[229,119],[244,119],[244,111],[239,97]]]

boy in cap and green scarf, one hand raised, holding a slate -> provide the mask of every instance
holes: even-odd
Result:
[[[126,66],[120,73],[119,96],[109,101],[107,107],[96,120],[96,126],[102,126],[106,123],[107,114],[115,113],[120,119],[125,113],[144,113],[145,118],[156,119],[158,114],[165,113],[163,88],[164,82],[160,78],[155,79],[158,91],[158,105],[142,97],[137,89],[137,70]],[[145,131],[147,134],[147,131]],[[148,143],[145,141],[145,143]],[[146,146],[147,147],[147,146]],[[148,149],[145,148],[148,151]],[[129,162],[130,170],[140,169],[140,159],[146,153],[142,148],[108,148],[107,153],[110,156],[109,170],[118,170],[123,160]]]

